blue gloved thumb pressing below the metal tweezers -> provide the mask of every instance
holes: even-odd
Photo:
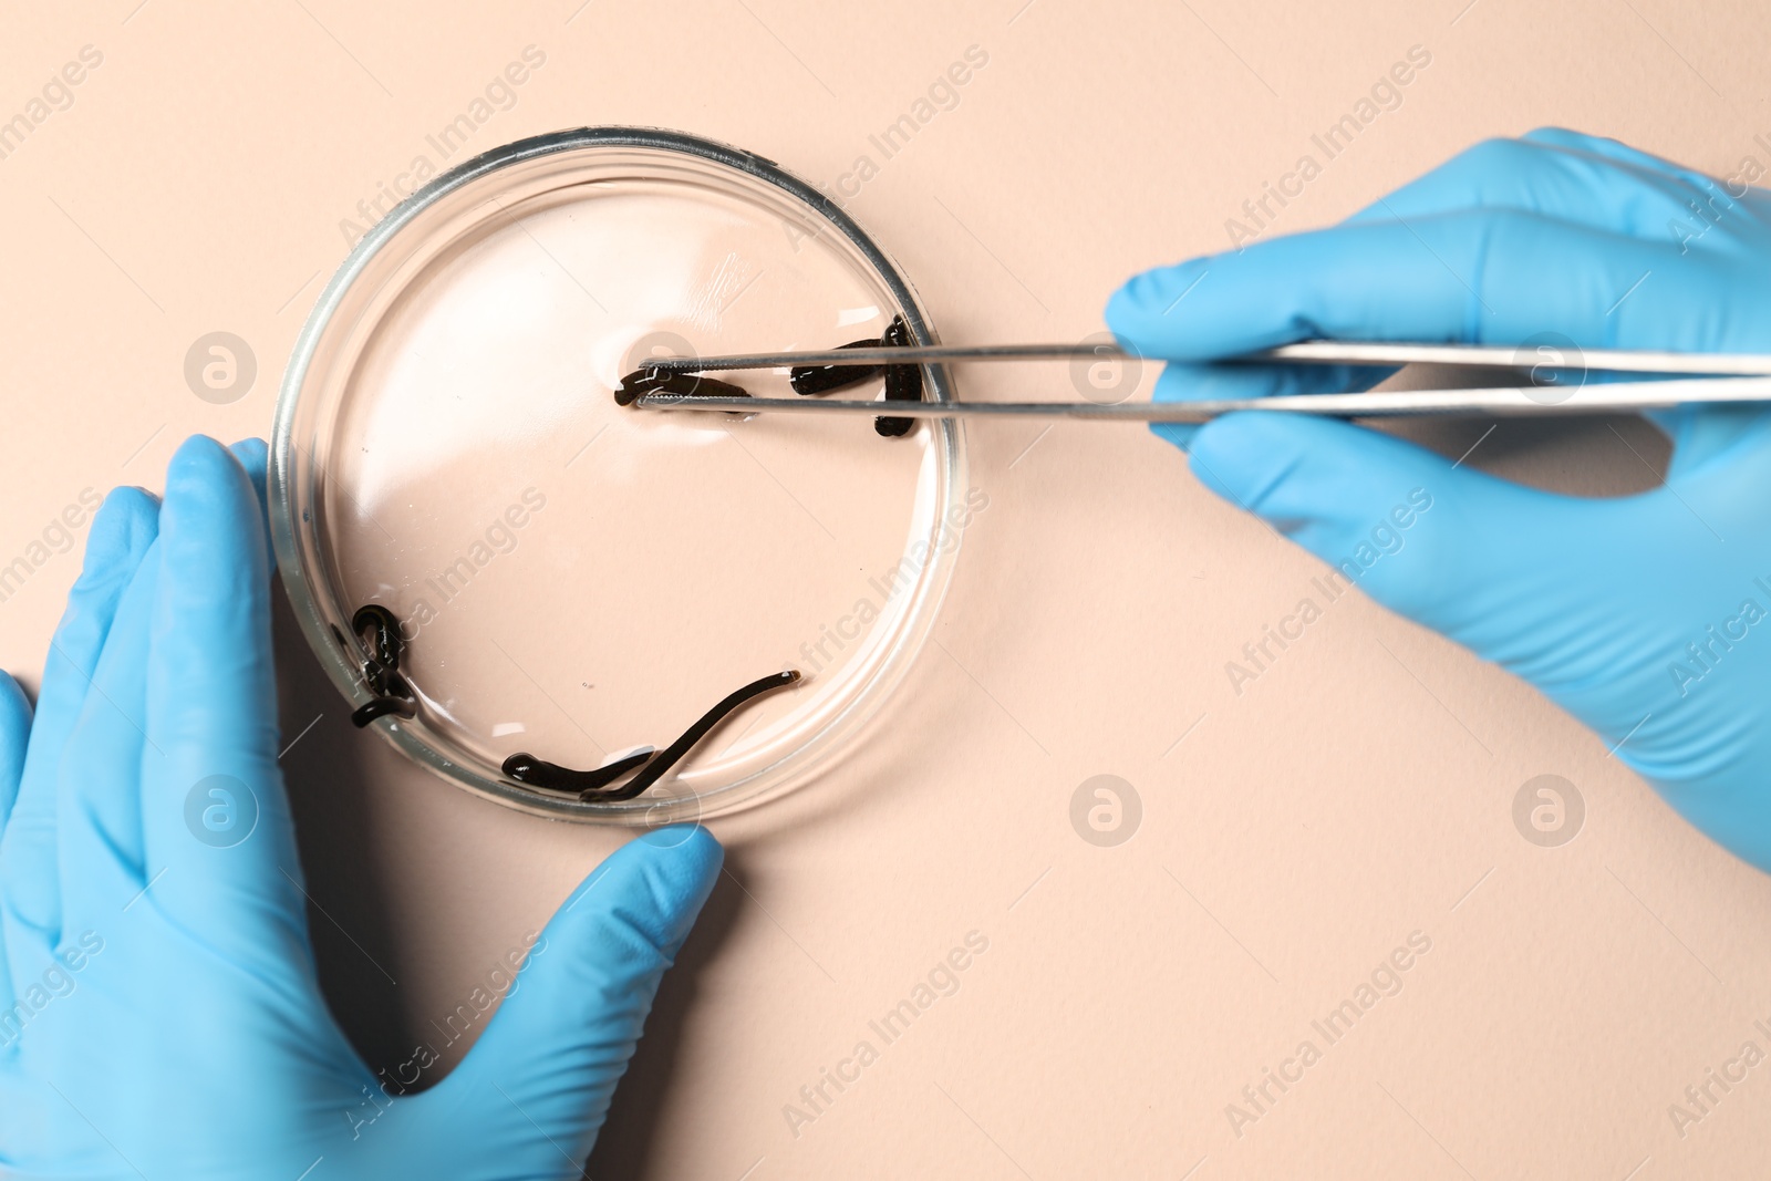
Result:
[[[1194,473],[1226,499],[1326,561],[1323,583],[1376,602],[1491,660],[1516,662],[1521,637],[1560,602],[1550,521],[1578,503],[1454,467],[1433,452],[1344,421],[1231,414],[1192,446]],[[1543,540],[1537,540],[1543,538]],[[1535,598],[1534,598],[1535,595]],[[1509,607],[1500,611],[1496,598]],[[1259,669],[1250,669],[1259,673]]]

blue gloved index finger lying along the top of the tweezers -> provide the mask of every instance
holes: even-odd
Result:
[[[1583,347],[1714,347],[1709,322],[1688,313],[1690,283],[1640,282],[1679,257],[1674,243],[1512,211],[1392,218],[1148,271],[1114,292],[1107,324],[1144,356],[1176,361],[1316,336],[1521,343],[1558,333]],[[1723,264],[1691,257],[1684,266]],[[1165,315],[1206,271],[1211,299]]]

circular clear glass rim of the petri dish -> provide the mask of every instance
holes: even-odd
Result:
[[[402,200],[356,244],[351,255],[340,264],[326,289],[321,292],[306,322],[301,328],[296,345],[290,351],[289,365],[278,391],[276,414],[271,432],[269,464],[269,515],[271,544],[276,552],[283,586],[289,593],[298,623],[308,646],[313,650],[331,682],[338,687],[352,706],[372,698],[363,683],[360,655],[340,636],[340,621],[349,613],[336,602],[333,583],[324,572],[328,545],[321,538],[322,522],[319,513],[310,512],[315,503],[313,448],[306,459],[298,439],[298,416],[301,413],[301,393],[308,384],[310,370],[315,363],[328,331],[335,328],[340,308],[356,292],[358,282],[374,262],[407,227],[421,218],[445,198],[466,189],[505,168],[535,161],[558,152],[583,149],[641,149],[664,154],[689,156],[698,161],[730,168],[742,177],[760,181],[779,189],[802,207],[802,214],[818,223],[829,225],[847,239],[847,244],[861,255],[871,267],[873,276],[891,292],[903,313],[910,336],[916,343],[939,343],[914,289],[886,251],[829,197],[806,181],[786,172],[779,165],[754,152],[746,152],[714,140],[664,131],[652,127],[577,127],[554,131],[526,140],[517,140],[491,149],[455,168],[439,174],[423,188]],[[924,397],[930,400],[949,400],[951,384],[944,367],[924,365]],[[965,448],[963,427],[956,420],[928,420],[933,432],[937,466],[937,503],[932,519],[939,526],[953,494],[963,487]],[[912,535],[914,540],[914,535]],[[802,786],[822,768],[831,756],[855,737],[866,721],[884,705],[884,701],[901,682],[909,666],[933,627],[935,616],[951,583],[953,565],[960,544],[932,547],[926,565],[923,565],[916,586],[907,595],[901,611],[905,621],[903,634],[894,639],[893,652],[882,662],[878,673],[870,680],[861,696],[845,710],[832,717],[800,749],[783,756],[776,763],[724,784],[707,793],[687,795],[645,795],[636,800],[616,804],[586,804],[570,797],[553,797],[515,784],[503,776],[485,774],[475,767],[473,758],[466,758],[446,737],[437,735],[421,724],[413,726],[398,719],[383,719],[372,729],[414,763],[429,768],[439,777],[466,788],[483,799],[507,807],[526,811],[556,820],[602,822],[630,827],[655,827],[661,823],[696,822],[707,816],[737,811],[772,799],[783,791]],[[321,565],[321,570],[310,567]],[[666,779],[666,784],[673,784]]]

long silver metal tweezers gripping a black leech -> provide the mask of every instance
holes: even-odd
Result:
[[[960,361],[1144,361],[1114,345],[917,345],[848,347],[733,356],[677,356],[648,359],[643,372],[715,374],[730,370],[868,367]],[[1394,418],[1406,414],[1525,416],[1525,414],[1633,414],[1686,404],[1771,402],[1771,354],[1755,352],[1638,352],[1617,349],[1546,349],[1528,345],[1442,345],[1309,340],[1213,361],[1213,365],[1454,365],[1514,368],[1530,381],[1481,390],[1385,390],[1371,393],[1277,395],[1197,402],[882,402],[825,398],[708,397],[700,393],[639,393],[629,405],[652,411],[726,411],[740,414],[788,411],[795,414],[880,414],[893,418],[1082,418],[1100,421],[1201,423],[1234,411],[1291,411],[1332,418]],[[1656,381],[1603,381],[1587,375],[1658,374]],[[1551,377],[1539,381],[1539,374]]]

